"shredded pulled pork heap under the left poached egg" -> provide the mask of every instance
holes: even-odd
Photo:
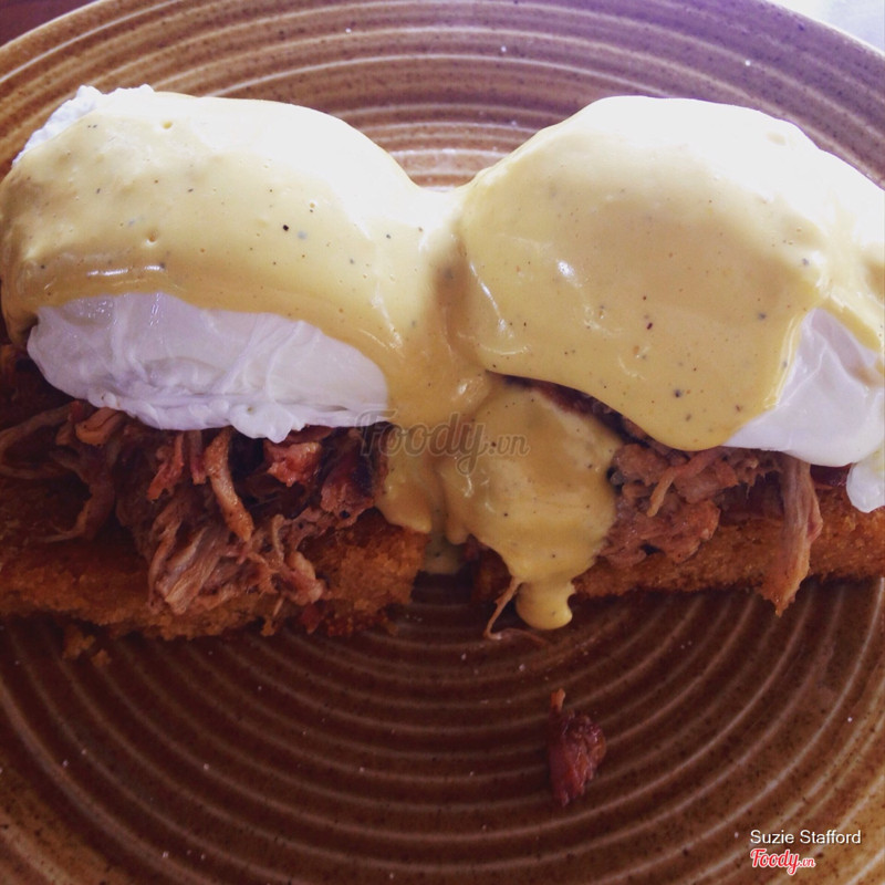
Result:
[[[279,444],[232,428],[168,431],[74,400],[0,433],[0,472],[73,472],[88,489],[74,525],[92,538],[114,513],[148,563],[150,602],[211,608],[244,587],[306,606],[324,581],[299,551],[372,507],[376,430],[310,427]]]

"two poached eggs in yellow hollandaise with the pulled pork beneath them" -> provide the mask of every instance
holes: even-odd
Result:
[[[811,565],[821,485],[885,528],[883,222],[881,188],[748,108],[603,100],[437,191],[319,112],[84,88],[0,187],[0,294],[81,404],[52,446],[104,458],[179,617],[256,587],[319,616],[304,545],[360,520],[413,576],[466,552],[545,628],[600,570],[764,523],[751,574],[704,581],[782,611],[810,569],[885,571]]]

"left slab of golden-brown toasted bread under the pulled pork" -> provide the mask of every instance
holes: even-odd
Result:
[[[0,617],[48,614],[115,635],[163,638],[216,635],[253,623],[272,629],[293,618],[309,629],[351,633],[408,600],[424,556],[423,535],[389,525],[372,510],[306,545],[305,555],[330,587],[329,598],[315,608],[253,592],[175,615],[167,606],[148,604],[146,565],[115,523],[93,541],[41,541],[59,523],[70,523],[81,496],[74,482],[0,479]]]

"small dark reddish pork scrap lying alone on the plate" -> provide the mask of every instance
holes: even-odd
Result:
[[[582,796],[605,756],[602,729],[584,714],[563,711],[565,691],[550,696],[548,718],[548,763],[553,798],[565,808]]]

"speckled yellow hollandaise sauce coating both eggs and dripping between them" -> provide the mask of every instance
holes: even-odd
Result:
[[[606,471],[620,440],[508,378],[574,388],[668,446],[707,448],[787,409],[803,329],[824,312],[848,345],[814,396],[822,414],[827,397],[861,397],[846,436],[868,468],[884,208],[874,184],[746,108],[604,100],[440,192],[314,111],[118,91],[29,147],[3,183],[3,310],[18,341],[35,323],[75,325],[80,350],[65,360],[123,386],[122,357],[102,354],[132,325],[102,325],[84,304],[122,316],[121,296],[135,296],[183,302],[201,322],[306,323],[321,340],[312,360],[323,341],[346,345],[352,356],[335,358],[379,371],[397,428],[384,514],[496,550],[522,616],[552,627],[614,521]],[[64,388],[65,365],[40,337],[32,355]],[[143,372],[162,392],[150,414],[184,389],[198,421],[209,393],[179,337]],[[239,358],[248,376],[248,351]],[[100,387],[96,405],[110,402]],[[772,433],[757,447],[779,448]],[[844,464],[844,447],[825,457]]]

